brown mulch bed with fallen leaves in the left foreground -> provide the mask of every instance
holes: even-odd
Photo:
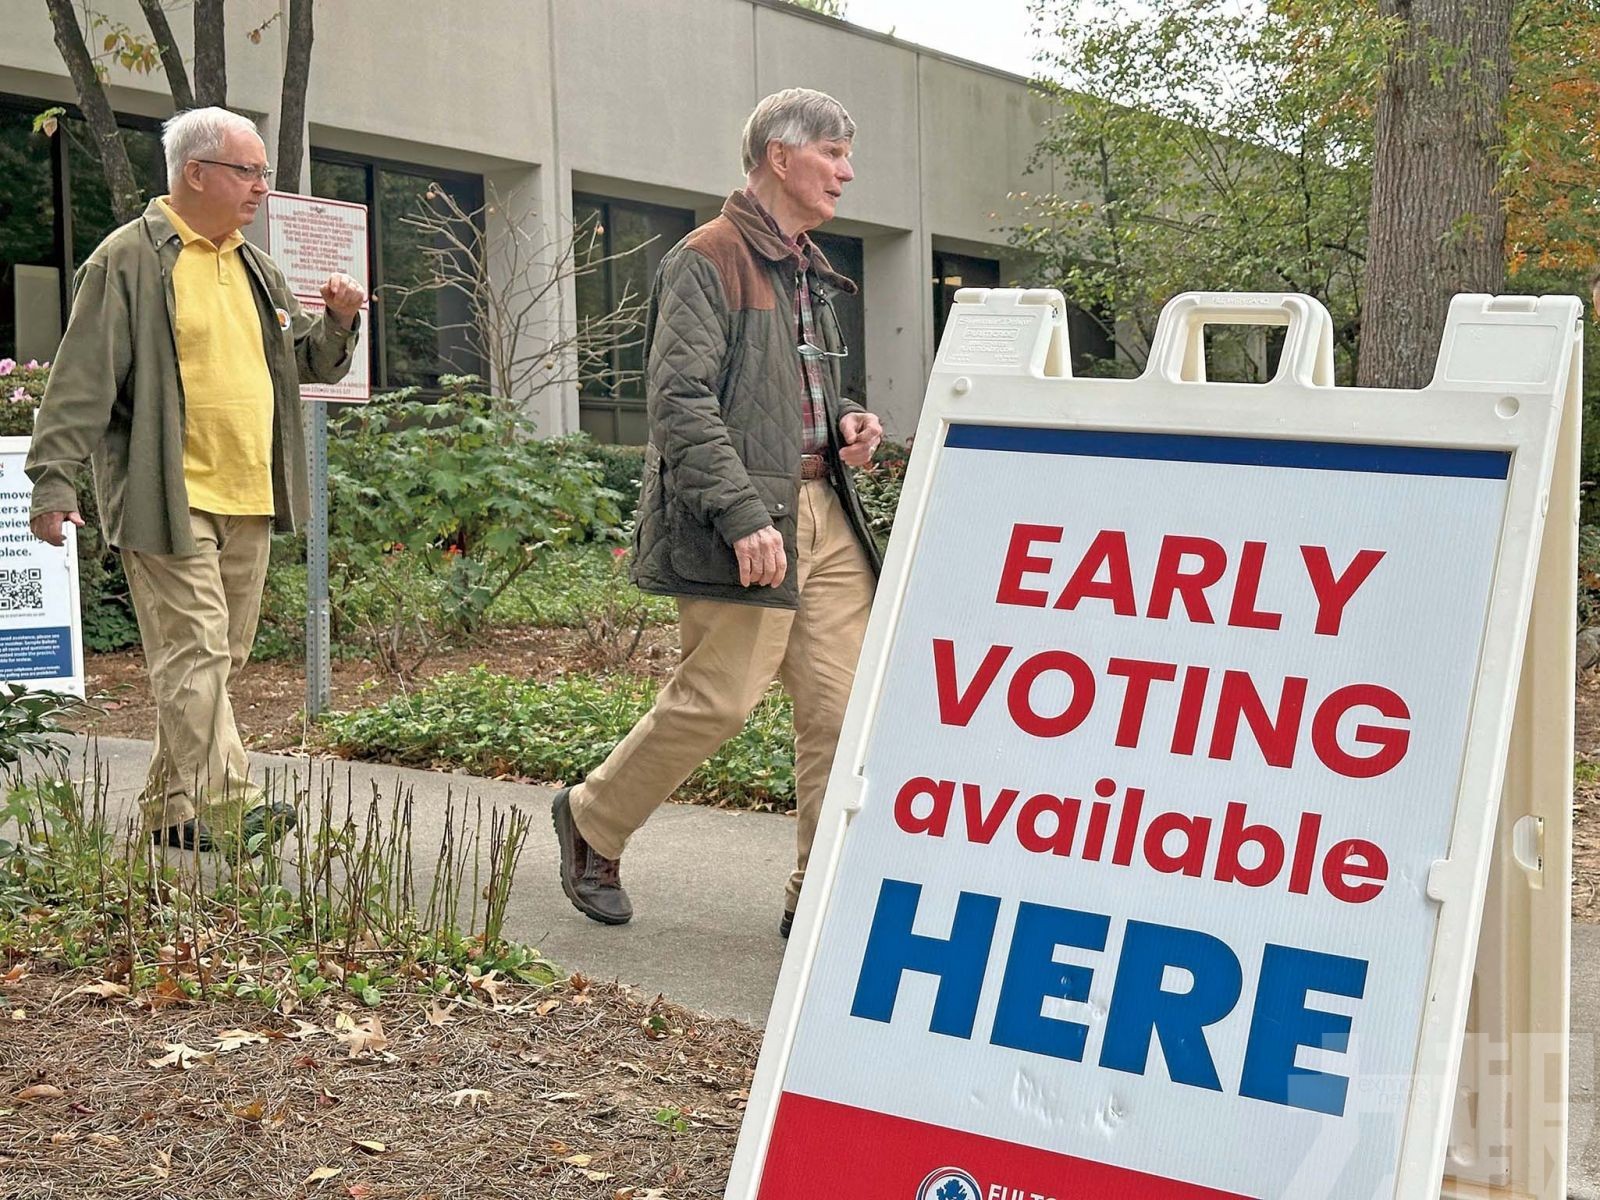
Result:
[[[579,978],[285,1016],[27,970],[0,970],[11,1200],[720,1197],[760,1040]]]

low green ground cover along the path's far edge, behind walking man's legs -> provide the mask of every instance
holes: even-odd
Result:
[[[635,675],[574,674],[541,683],[475,667],[438,675],[371,709],[331,714],[323,728],[341,752],[358,758],[570,782],[598,766],[654,698],[656,682]],[[792,808],[789,699],[768,694],[680,795]]]

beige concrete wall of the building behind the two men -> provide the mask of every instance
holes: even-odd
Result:
[[[278,107],[286,0],[229,5],[229,101]],[[136,0],[104,0],[142,29]],[[179,40],[187,10],[174,21]],[[933,362],[934,246],[1002,262],[1006,194],[1026,174],[1048,109],[1026,80],[821,18],[781,0],[339,0],[317,6],[309,144],[483,174],[533,197],[538,235],[571,222],[574,187],[712,216],[742,184],[739,130],[766,93],[808,85],[854,117],[858,181],[829,232],[862,240],[867,400],[891,434],[915,427]],[[0,0],[0,91],[72,101],[50,18]],[[171,110],[165,77],[112,69],[125,112]],[[573,288],[546,306],[539,338],[570,336]],[[576,386],[530,397],[541,429],[578,429]]]

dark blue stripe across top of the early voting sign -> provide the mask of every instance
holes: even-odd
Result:
[[[1355,442],[1275,442],[1262,437],[968,424],[952,424],[944,443],[957,450],[1144,458],[1163,462],[1232,462],[1245,467],[1302,467],[1307,470],[1366,470],[1386,475],[1453,475],[1458,478],[1507,478],[1510,475],[1510,451],[1506,450],[1374,446]]]

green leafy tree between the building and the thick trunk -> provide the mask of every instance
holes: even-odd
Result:
[[[1171,0],[1106,13],[1045,0],[1035,152],[1013,242],[1141,366],[1162,304],[1190,288],[1302,291],[1358,346],[1371,107],[1387,26],[1358,0]],[[1258,363],[1264,366],[1264,363]]]

